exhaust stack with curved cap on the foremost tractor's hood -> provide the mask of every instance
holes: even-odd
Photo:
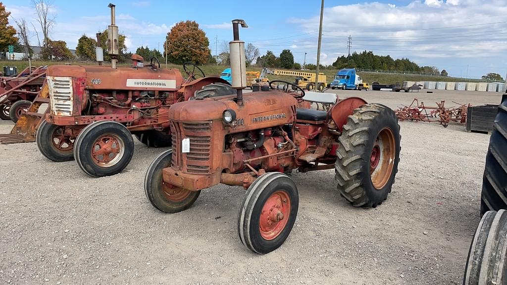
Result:
[[[243,105],[243,89],[246,88],[245,42],[239,40],[239,25],[247,28],[244,20],[232,20],[234,40],[229,42],[232,88],[236,89],[237,104]]]

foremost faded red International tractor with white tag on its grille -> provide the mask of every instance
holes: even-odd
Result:
[[[269,253],[291,232],[298,188],[291,172],[334,169],[340,194],[353,206],[376,207],[394,183],[400,160],[400,126],[381,104],[336,94],[306,92],[271,81],[266,91],[243,94],[244,42],[233,20],[232,87],[197,92],[171,106],[166,119],[172,149],[148,167],[144,190],[167,213],[189,208],[201,190],[220,183],[246,189],[238,234],[251,251]],[[298,108],[298,101],[335,103],[329,112]]]

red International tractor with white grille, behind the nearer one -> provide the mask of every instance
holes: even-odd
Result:
[[[189,100],[204,86],[227,84],[220,78],[204,77],[192,63],[183,65],[187,79],[178,69],[160,68],[156,58],[145,64],[136,54],[131,66],[116,66],[118,27],[115,6],[110,7],[112,65],[49,66],[46,84],[51,110],[37,131],[37,145],[45,157],[75,159],[94,177],[119,173],[128,165],[134,150],[131,133],[145,145],[170,146],[169,106]]]

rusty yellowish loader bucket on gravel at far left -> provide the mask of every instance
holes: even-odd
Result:
[[[46,119],[46,114],[50,110],[50,106],[48,105],[46,112],[40,114],[39,109],[43,103],[49,103],[49,90],[46,82],[44,82],[41,91],[39,91],[39,94],[37,94],[37,97],[35,97],[26,113],[19,117],[11,132],[9,134],[0,134],[0,144],[10,145],[35,141],[37,129],[42,120]]]

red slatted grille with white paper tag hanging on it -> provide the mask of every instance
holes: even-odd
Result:
[[[171,135],[173,165],[187,173],[209,174],[211,124],[209,122],[172,122]],[[190,139],[190,152],[188,153],[182,153],[184,138]]]

